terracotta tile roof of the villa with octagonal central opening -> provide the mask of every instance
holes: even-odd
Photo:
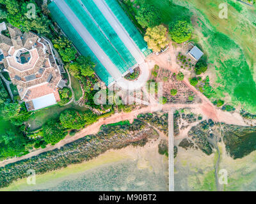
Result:
[[[13,84],[17,85],[20,99],[26,101],[29,108],[32,108],[31,110],[33,110],[33,104],[29,105],[29,101],[47,94],[54,93],[56,101],[60,101],[58,84],[61,75],[50,45],[36,34],[30,32],[22,34],[12,25],[8,26],[8,31],[11,37],[9,43],[12,43],[13,47],[9,47],[10,56],[3,59],[3,63],[10,73]],[[29,50],[31,59],[28,63],[20,64],[15,60],[17,53],[15,51],[19,48]]]

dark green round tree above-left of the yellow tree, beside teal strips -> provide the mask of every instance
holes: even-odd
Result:
[[[161,23],[161,13],[156,7],[143,4],[136,15],[136,19],[142,27],[154,27]]]

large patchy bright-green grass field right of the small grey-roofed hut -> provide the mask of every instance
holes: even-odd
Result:
[[[256,8],[232,0],[177,0],[175,3],[193,11],[193,40],[208,56],[210,78],[217,96],[256,112],[255,53]],[[227,3],[228,18],[218,17],[220,3]]]

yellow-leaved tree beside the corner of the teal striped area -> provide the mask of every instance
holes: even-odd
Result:
[[[148,27],[144,40],[148,43],[148,48],[154,52],[160,52],[161,48],[168,45],[169,40],[166,37],[166,27],[158,25],[156,27]]]

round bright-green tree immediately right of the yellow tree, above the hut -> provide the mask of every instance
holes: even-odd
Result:
[[[188,19],[176,18],[169,24],[169,34],[173,41],[183,43],[191,38],[192,29]]]

